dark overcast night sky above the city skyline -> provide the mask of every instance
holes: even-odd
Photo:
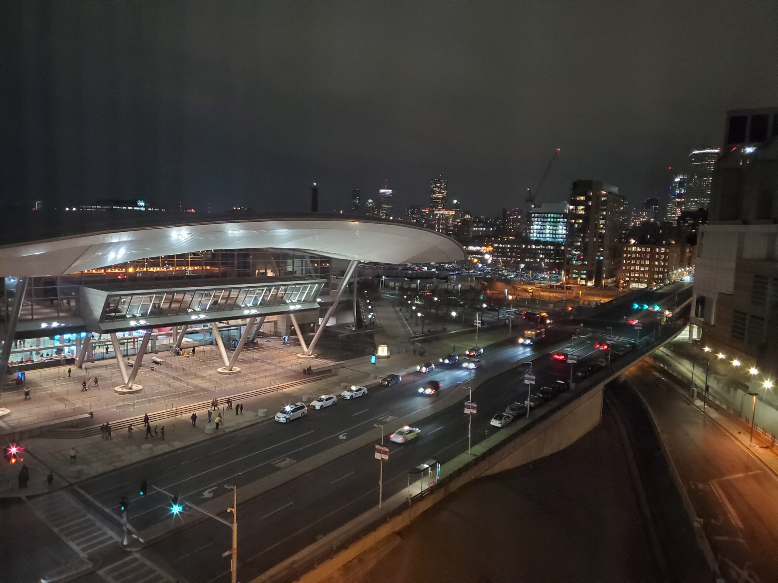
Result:
[[[631,201],[778,104],[778,2],[0,2],[2,201]]]

